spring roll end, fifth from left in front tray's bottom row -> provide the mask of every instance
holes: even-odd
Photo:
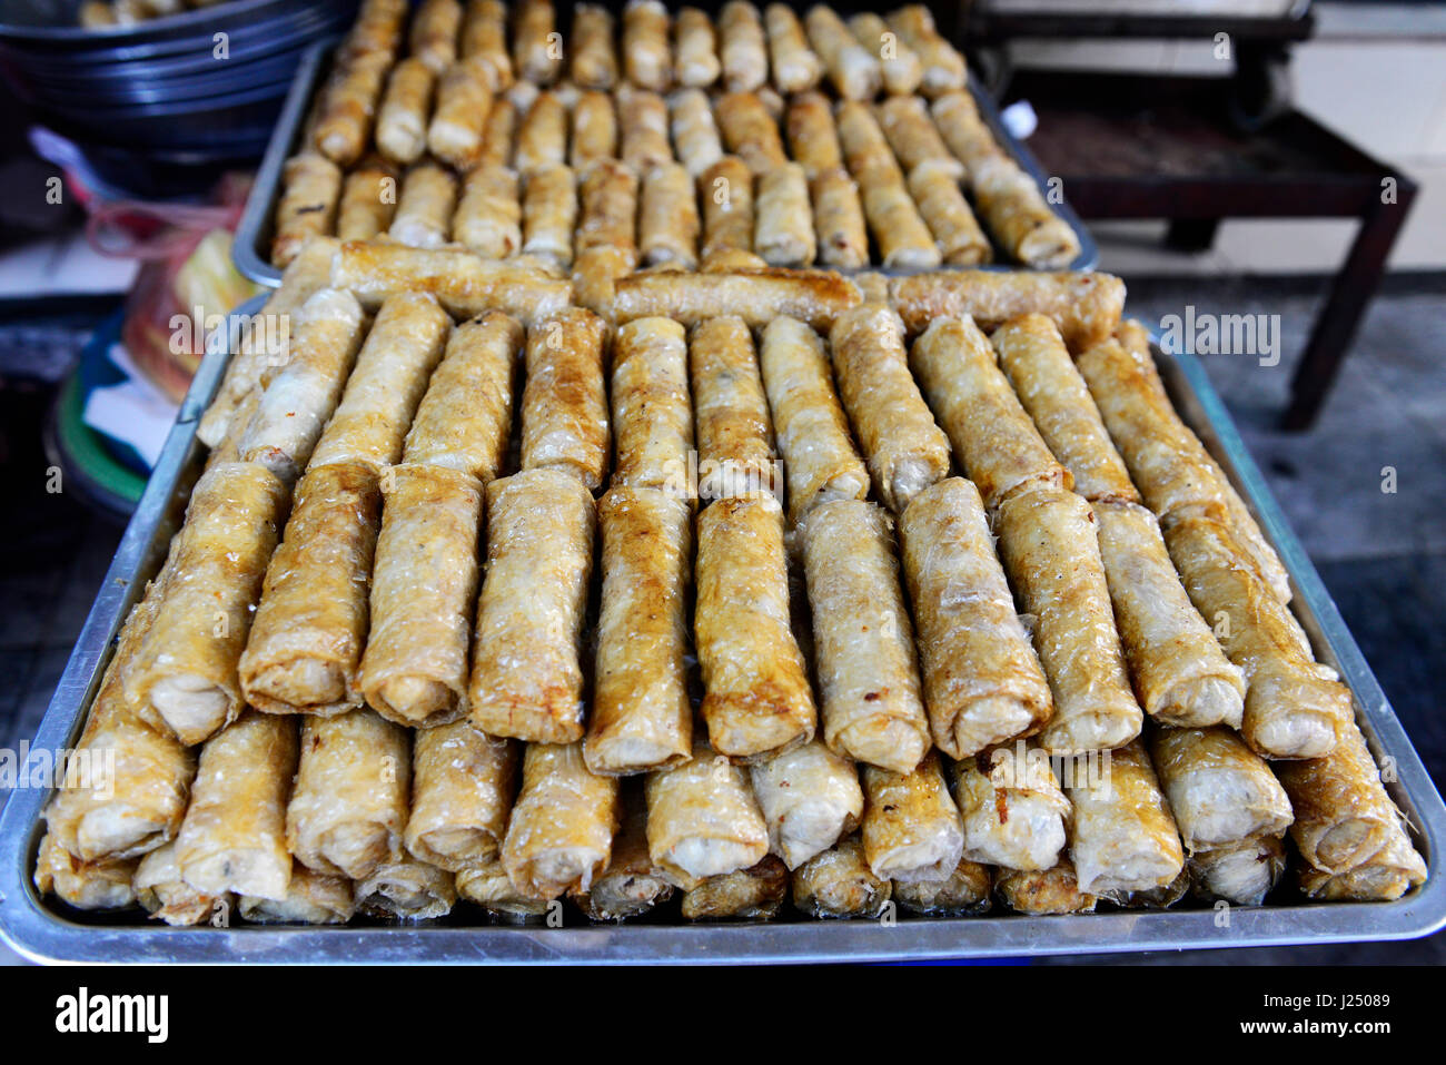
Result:
[[[581,744],[528,744],[502,842],[508,878],[544,899],[587,891],[607,867],[617,818],[617,778],[590,773]]]

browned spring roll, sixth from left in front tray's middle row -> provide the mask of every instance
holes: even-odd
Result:
[[[790,629],[782,509],[768,493],[719,499],[698,517],[694,632],[703,718],[732,758],[813,738],[808,671]]]

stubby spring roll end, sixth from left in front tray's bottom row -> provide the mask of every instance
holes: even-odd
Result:
[[[703,739],[691,758],[648,774],[648,854],[683,890],[707,877],[736,873],[768,854],[768,828],[748,770]]]

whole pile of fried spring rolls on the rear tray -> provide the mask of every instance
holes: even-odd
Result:
[[[335,236],[412,271],[471,252],[490,263],[473,285],[606,292],[635,266],[1079,256],[923,4],[844,20],[630,0],[567,19],[551,0],[427,0],[409,23],[406,7],[366,0],[338,48],[282,175],[276,266]]]

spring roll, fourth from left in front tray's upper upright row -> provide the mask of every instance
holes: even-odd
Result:
[[[528,330],[522,469],[558,467],[602,488],[610,444],[603,333],[603,320],[581,308]]]

